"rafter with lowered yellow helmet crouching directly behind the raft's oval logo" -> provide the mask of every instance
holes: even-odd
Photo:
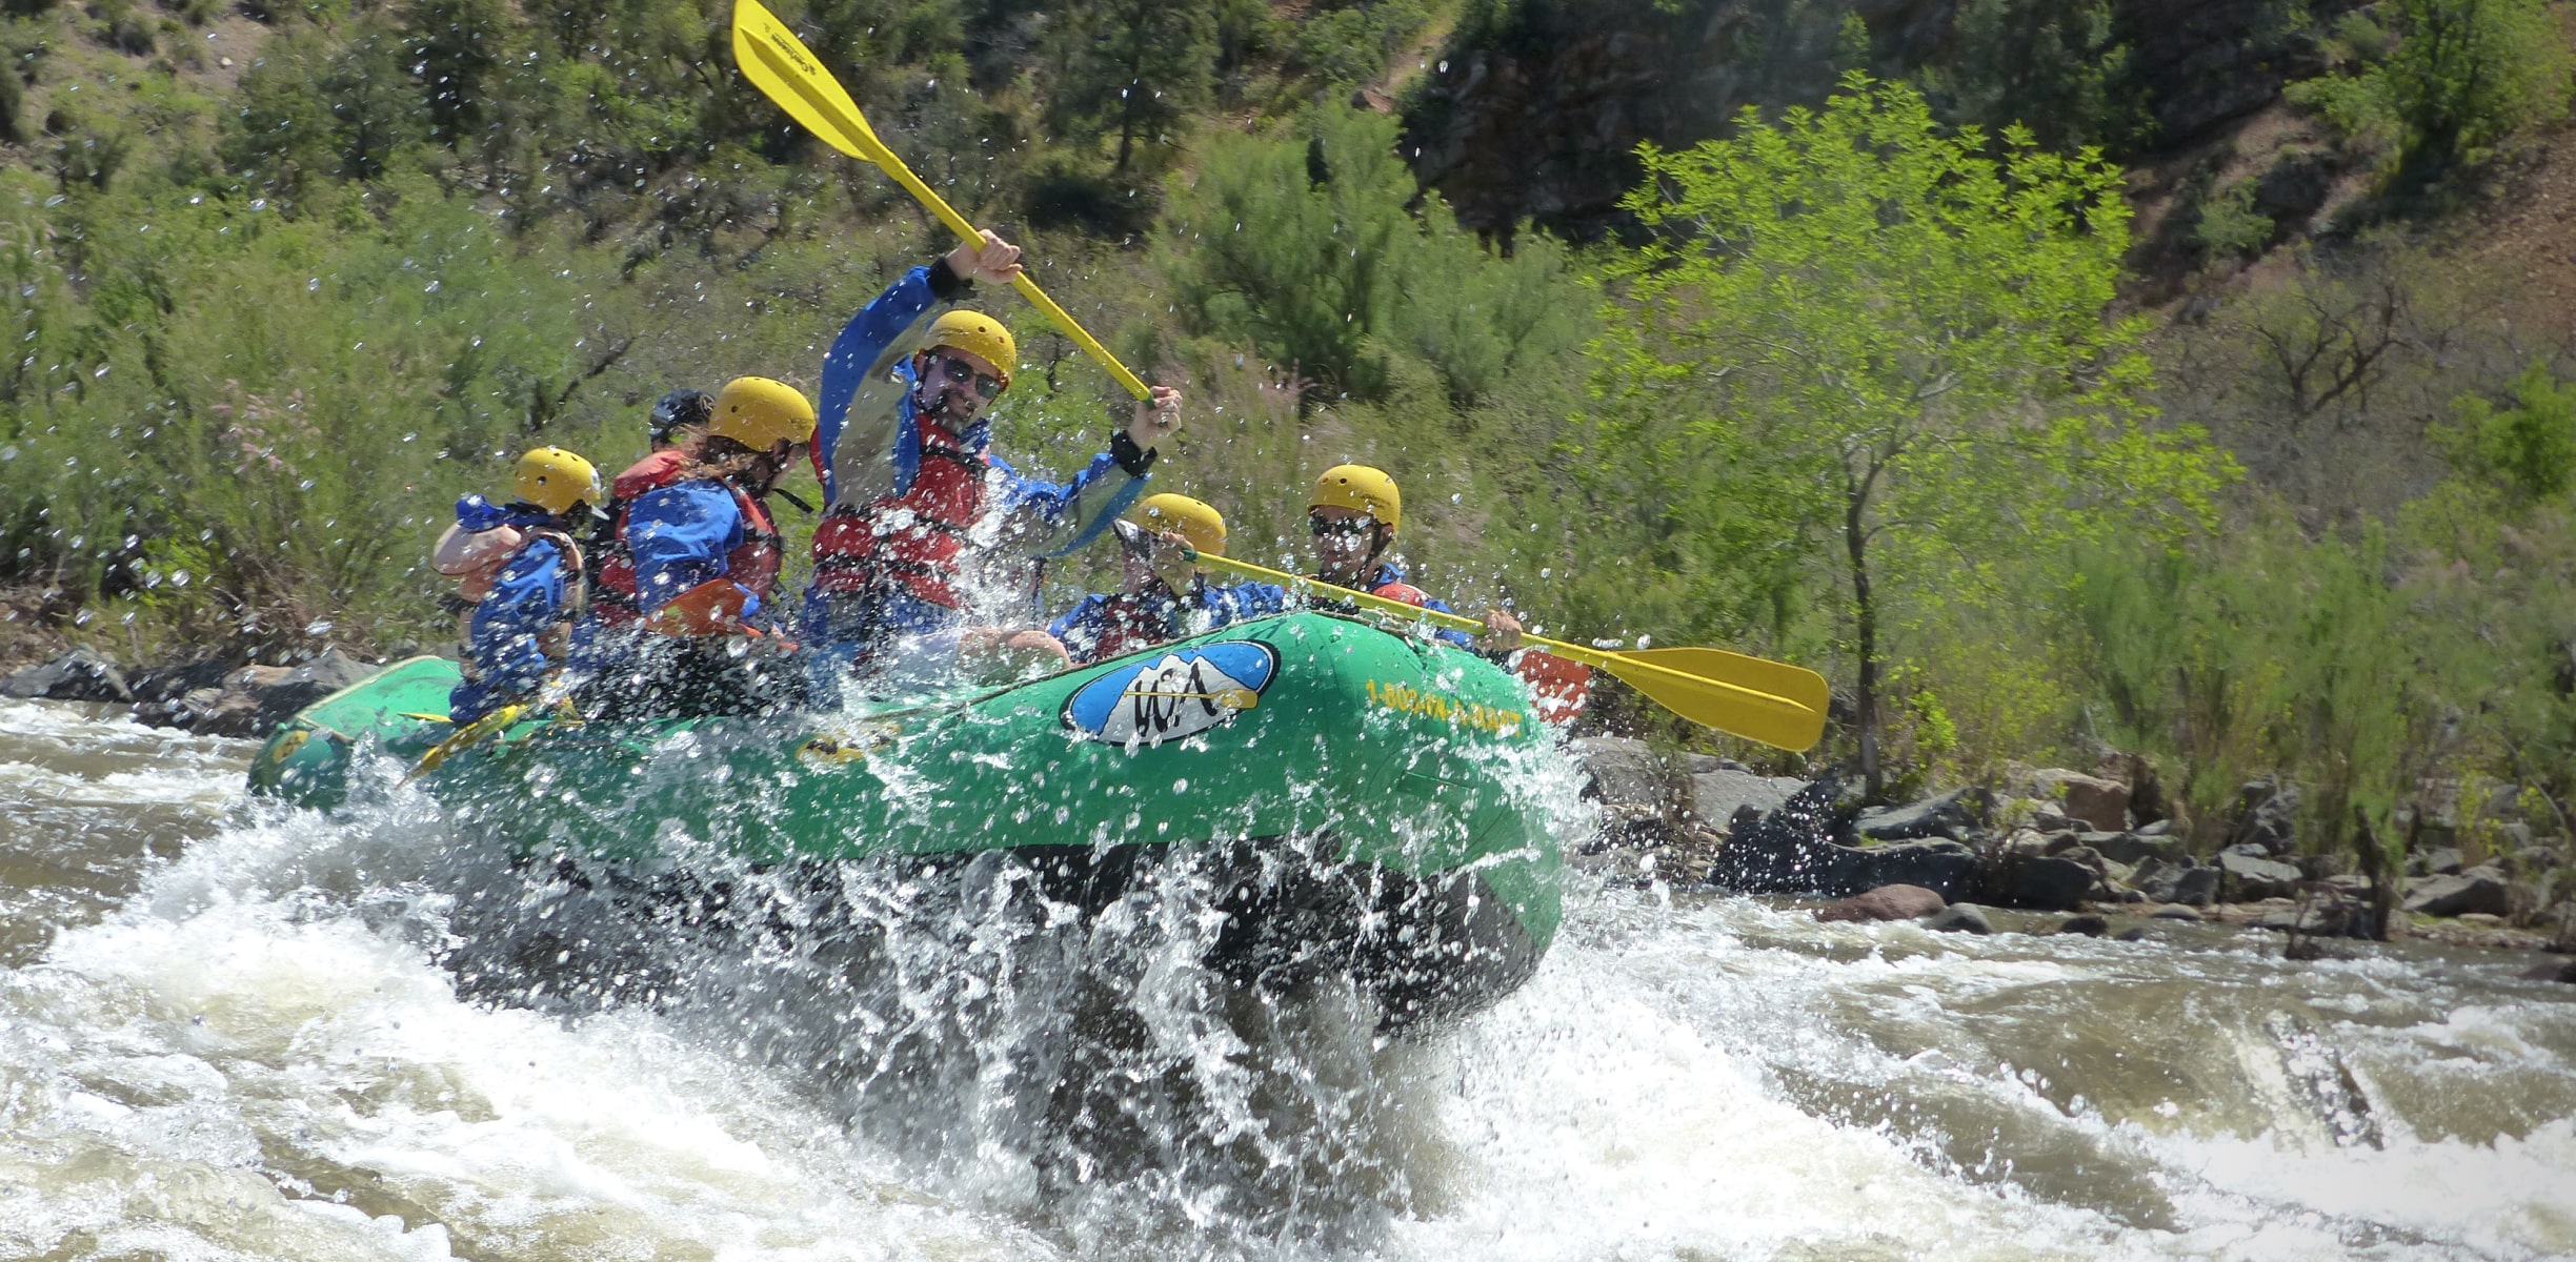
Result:
[[[1182,551],[1188,546],[1203,556],[1226,554],[1226,518],[1213,505],[1188,494],[1149,494],[1118,520],[1115,531],[1126,549],[1121,590],[1084,595],[1046,628],[1074,664],[1123,657],[1288,608],[1288,592],[1270,582],[1208,582],[1208,572]]]

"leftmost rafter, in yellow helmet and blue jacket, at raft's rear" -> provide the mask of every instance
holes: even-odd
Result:
[[[510,528],[518,551],[489,579],[466,616],[464,683],[448,693],[448,719],[471,724],[507,703],[531,701],[569,652],[569,626],[582,616],[582,546],[574,533],[600,502],[600,471],[564,448],[518,458],[518,500],[456,500],[456,528],[469,536]]]

